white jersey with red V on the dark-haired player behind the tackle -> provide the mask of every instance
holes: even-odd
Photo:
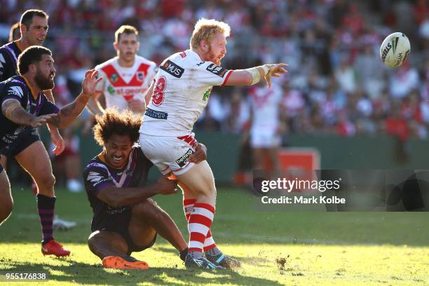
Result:
[[[133,98],[144,101],[158,67],[155,62],[136,55],[132,67],[121,67],[118,57],[114,57],[95,69],[98,76],[103,76],[97,91],[104,93],[106,107],[116,107],[121,111],[128,109],[128,101]]]

